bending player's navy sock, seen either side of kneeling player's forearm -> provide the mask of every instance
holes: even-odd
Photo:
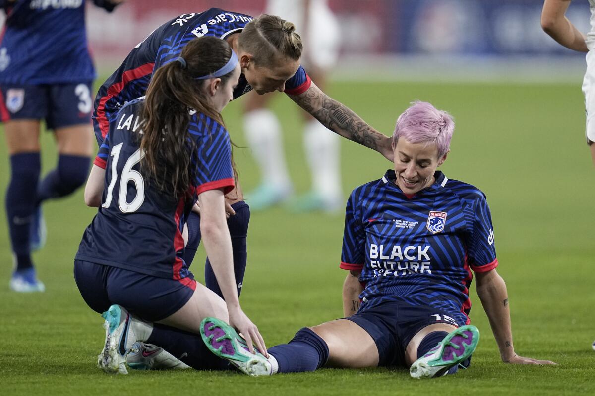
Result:
[[[248,236],[248,223],[250,222],[250,207],[246,202],[241,201],[231,205],[231,208],[233,208],[236,214],[227,219],[227,227],[231,236],[233,272],[236,275],[237,295],[239,296],[242,293],[246,262],[248,260],[246,237]],[[205,264],[205,286],[223,298],[223,293],[221,293],[217,278],[215,278],[215,273],[208,258]]]

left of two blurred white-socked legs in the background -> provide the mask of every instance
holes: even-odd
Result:
[[[250,207],[256,211],[284,201],[293,189],[283,154],[281,125],[277,116],[265,107],[270,95],[251,92],[245,101],[246,140],[261,171],[260,185],[247,195]]]

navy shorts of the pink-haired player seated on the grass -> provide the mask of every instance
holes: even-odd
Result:
[[[358,313],[345,319],[355,322],[374,338],[380,357],[378,366],[406,367],[405,349],[411,338],[426,326],[436,323],[462,325],[440,309],[392,300],[369,307],[362,305]]]

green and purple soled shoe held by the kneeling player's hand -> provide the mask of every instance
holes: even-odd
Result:
[[[255,354],[248,350],[248,344],[233,327],[217,318],[204,318],[201,322],[202,340],[208,349],[251,376],[271,375],[271,363],[256,347]]]

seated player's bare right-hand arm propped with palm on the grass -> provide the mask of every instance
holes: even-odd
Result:
[[[496,270],[475,273],[475,277],[477,279],[477,295],[490,320],[491,331],[496,338],[502,361],[519,365],[555,365],[556,363],[549,360],[531,359],[518,356],[515,353],[512,344],[511,314],[506,283]]]

